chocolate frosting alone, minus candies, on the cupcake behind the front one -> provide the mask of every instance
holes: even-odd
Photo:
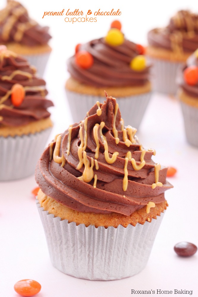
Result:
[[[89,69],[83,69],[75,63],[75,56],[67,61],[67,69],[77,81],[86,85],[105,86],[141,86],[149,78],[149,68],[134,71],[130,68],[131,60],[139,55],[137,45],[124,40],[122,45],[110,46],[104,38],[87,42],[79,50],[88,51],[94,58],[94,64]]]

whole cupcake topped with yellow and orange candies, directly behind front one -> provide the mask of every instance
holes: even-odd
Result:
[[[121,25],[118,27],[111,28],[104,38],[77,45],[75,55],[67,61],[71,77],[66,94],[75,122],[96,101],[103,101],[105,90],[116,97],[126,123],[140,125],[151,97],[150,67],[144,48],[127,40]]]

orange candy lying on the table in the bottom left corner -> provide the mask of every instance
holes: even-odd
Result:
[[[34,296],[41,290],[41,285],[33,279],[22,279],[14,285],[15,292],[21,296]]]

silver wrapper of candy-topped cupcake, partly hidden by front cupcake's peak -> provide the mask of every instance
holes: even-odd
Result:
[[[85,118],[87,111],[96,104],[96,101],[100,103],[105,101],[105,97],[79,94],[68,90],[66,90],[66,95],[73,120],[76,123]],[[111,96],[111,94],[108,95]],[[148,92],[116,98],[125,125],[139,128],[151,95],[152,92]]]

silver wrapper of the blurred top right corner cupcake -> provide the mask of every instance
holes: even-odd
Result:
[[[153,91],[175,95],[178,90],[176,76],[178,68],[183,65],[182,62],[170,62],[148,57],[151,67],[151,82]]]

